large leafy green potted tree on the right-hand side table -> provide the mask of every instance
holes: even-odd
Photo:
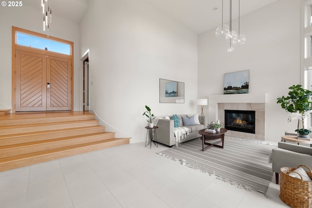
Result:
[[[309,115],[312,110],[310,106],[312,102],[309,101],[312,92],[310,90],[303,89],[302,85],[299,84],[292,85],[289,89],[291,91],[289,91],[288,96],[278,97],[277,103],[280,103],[283,109],[291,113],[288,118],[289,122],[294,119],[298,119],[298,126],[295,130],[298,132],[298,136],[309,138],[309,133],[311,131],[304,128],[304,118]]]

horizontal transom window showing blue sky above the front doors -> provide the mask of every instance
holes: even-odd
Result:
[[[16,44],[71,55],[71,45],[51,39],[17,32]]]

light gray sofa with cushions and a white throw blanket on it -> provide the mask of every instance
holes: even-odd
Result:
[[[187,127],[189,129],[189,134],[187,134],[185,138],[182,137],[179,142],[176,142],[176,137],[174,134],[174,120],[159,119],[157,122],[158,129],[156,130],[157,142],[172,147],[173,145],[177,146],[179,143],[200,137],[201,135],[198,133],[198,131],[205,129],[205,127],[207,126],[206,117],[204,115],[199,115],[198,120],[200,124],[183,126],[182,116],[192,115],[178,115],[180,120],[180,127]],[[170,118],[172,118],[172,116]]]

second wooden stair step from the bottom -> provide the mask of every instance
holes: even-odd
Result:
[[[52,150],[61,147],[74,146],[96,141],[103,141],[112,138],[115,138],[115,132],[100,132],[1,146],[0,158],[16,156],[19,154],[27,154],[36,151]]]

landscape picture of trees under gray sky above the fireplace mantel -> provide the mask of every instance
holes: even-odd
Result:
[[[249,70],[224,74],[223,94],[248,94]]]

